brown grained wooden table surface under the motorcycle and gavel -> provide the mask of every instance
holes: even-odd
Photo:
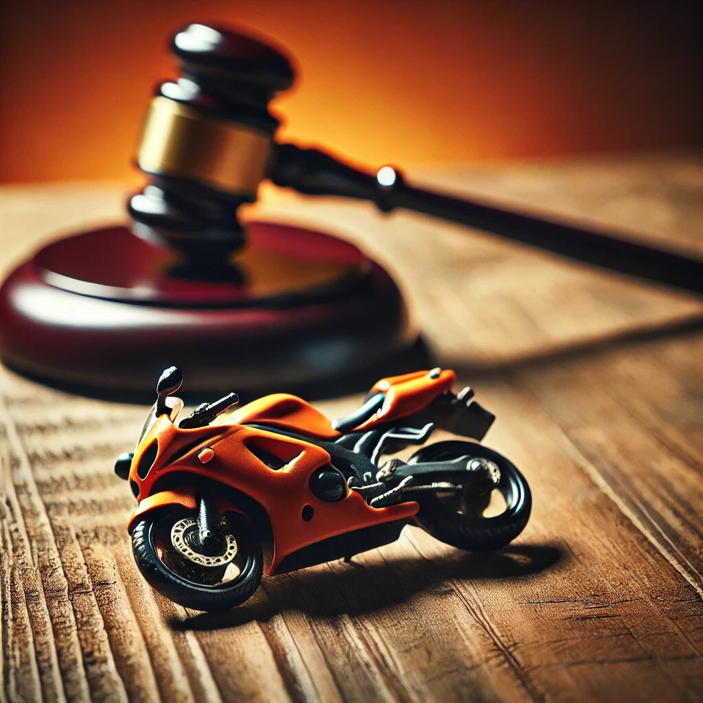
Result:
[[[703,256],[701,155],[426,175]],[[4,270],[120,219],[125,192],[2,189]],[[3,369],[0,698],[703,700],[702,304],[412,214],[292,196],[262,213],[330,226],[389,266],[439,363],[498,415],[485,441],[529,480],[527,529],[479,556],[408,528],[225,614],[188,612],[137,572],[134,501],[112,473],[146,408]]]

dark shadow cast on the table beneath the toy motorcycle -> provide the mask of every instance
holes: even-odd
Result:
[[[330,562],[264,579],[244,605],[226,612],[171,619],[176,630],[218,630],[251,621],[267,621],[285,610],[310,617],[359,615],[399,605],[416,593],[447,593],[460,588],[448,581],[517,579],[538,574],[564,561],[558,546],[508,546],[493,553],[453,553],[432,560],[418,555],[373,564]]]

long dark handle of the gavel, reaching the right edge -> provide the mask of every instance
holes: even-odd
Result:
[[[701,259],[623,240],[604,232],[412,188],[404,183],[399,172],[389,167],[372,175],[317,149],[280,144],[276,147],[276,160],[270,177],[276,185],[295,188],[305,195],[342,195],[370,200],[384,212],[403,207],[538,247],[577,262],[663,283],[672,288],[703,293]]]

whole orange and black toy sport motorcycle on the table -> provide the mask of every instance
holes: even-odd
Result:
[[[406,524],[465,550],[522,532],[531,495],[517,468],[476,441],[425,444],[436,429],[481,440],[494,415],[456,375],[435,368],[385,378],[359,410],[328,420],[273,394],[199,406],[179,423],[180,371],[165,370],[134,454],[117,459],[138,501],[136,564],[167,598],[195,610],[240,605],[266,576],[396,540]],[[389,458],[423,445],[407,461]],[[497,490],[505,511],[483,513]]]

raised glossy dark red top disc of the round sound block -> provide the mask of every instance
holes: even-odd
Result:
[[[32,266],[53,288],[186,308],[319,299],[359,285],[370,272],[368,259],[349,243],[256,221],[247,226],[247,245],[229,266],[213,262],[193,278],[183,275],[182,261],[176,250],[116,226],[57,240],[37,252]]]

